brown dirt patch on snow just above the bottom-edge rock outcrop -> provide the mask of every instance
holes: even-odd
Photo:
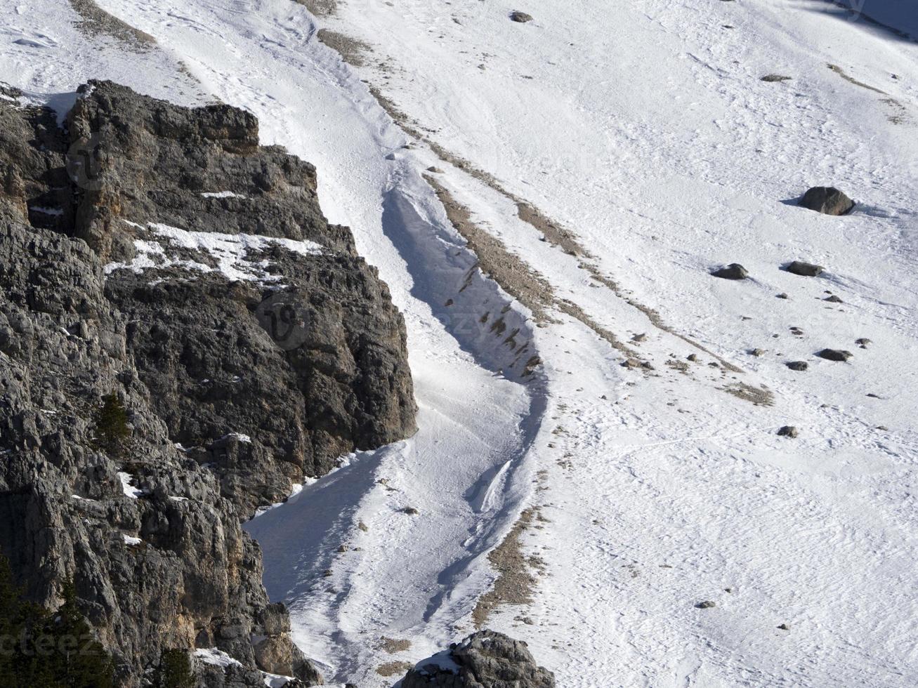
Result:
[[[500,605],[528,605],[532,602],[536,575],[544,570],[545,564],[538,557],[523,554],[521,537],[525,530],[532,527],[532,519],[538,514],[538,506],[526,509],[504,541],[487,555],[491,566],[498,571],[498,580],[481,596],[472,612],[476,628],[484,626],[491,612]]]

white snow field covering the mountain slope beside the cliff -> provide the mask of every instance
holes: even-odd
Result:
[[[62,109],[111,78],[251,110],[317,166],[405,314],[417,436],[248,526],[330,682],[391,686],[474,630],[488,553],[537,507],[532,599],[487,627],[561,688],[918,685],[912,0],[96,1],[157,47],[13,0],[0,80]],[[362,65],[317,28],[363,42]],[[542,322],[476,271],[425,174],[541,273]],[[814,185],[855,210],[796,205]],[[751,278],[709,274],[731,262]],[[498,313],[525,355],[479,322]]]

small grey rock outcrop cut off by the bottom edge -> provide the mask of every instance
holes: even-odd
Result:
[[[418,662],[401,688],[554,688],[554,674],[536,665],[526,643],[482,630]]]

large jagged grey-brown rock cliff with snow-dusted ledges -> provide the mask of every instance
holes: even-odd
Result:
[[[73,579],[129,688],[172,648],[241,662],[201,685],[317,684],[241,521],[410,434],[401,317],[253,117],[95,83],[69,123],[0,101],[0,550],[42,605]],[[229,241],[228,269],[216,230],[294,241]],[[118,455],[94,442],[112,392]]]

